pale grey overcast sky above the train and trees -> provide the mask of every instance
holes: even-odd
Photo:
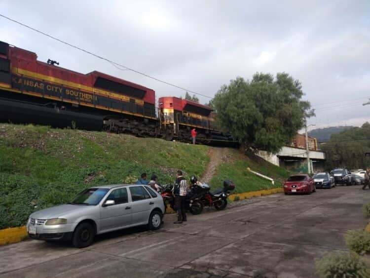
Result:
[[[370,97],[370,0],[0,0],[0,7],[61,40],[210,97],[237,76],[287,72],[316,109],[309,124],[370,121],[370,105],[362,106]],[[1,17],[0,40],[41,61],[142,84],[157,97],[185,95]]]

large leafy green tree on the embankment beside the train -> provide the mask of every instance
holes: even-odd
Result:
[[[252,80],[241,77],[223,85],[213,105],[217,123],[244,146],[278,152],[289,144],[314,115],[303,101],[302,86],[287,73],[256,73]]]

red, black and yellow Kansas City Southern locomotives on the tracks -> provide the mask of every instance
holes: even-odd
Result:
[[[34,52],[0,41],[0,121],[131,133],[236,146],[217,130],[212,109],[177,97],[160,97],[133,82],[101,72],[77,73],[37,60]]]

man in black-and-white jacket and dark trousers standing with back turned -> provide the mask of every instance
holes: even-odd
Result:
[[[181,170],[177,171],[176,181],[172,191],[175,196],[175,207],[177,211],[177,221],[174,224],[181,224],[183,221],[186,221],[185,198],[187,192],[187,182]]]

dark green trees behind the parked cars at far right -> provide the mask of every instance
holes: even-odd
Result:
[[[322,150],[326,153],[327,170],[369,167],[370,158],[365,157],[365,152],[370,152],[370,123],[332,134],[329,142],[322,145]]]

